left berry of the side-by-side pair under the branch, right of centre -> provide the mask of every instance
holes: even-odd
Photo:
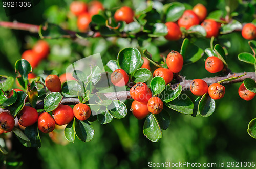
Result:
[[[208,85],[204,80],[195,79],[190,84],[191,92],[196,96],[202,96],[208,92]]]

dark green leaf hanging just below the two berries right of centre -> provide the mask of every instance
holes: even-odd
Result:
[[[203,117],[212,115],[215,111],[215,100],[212,99],[208,93],[205,93],[198,104],[198,110]]]

